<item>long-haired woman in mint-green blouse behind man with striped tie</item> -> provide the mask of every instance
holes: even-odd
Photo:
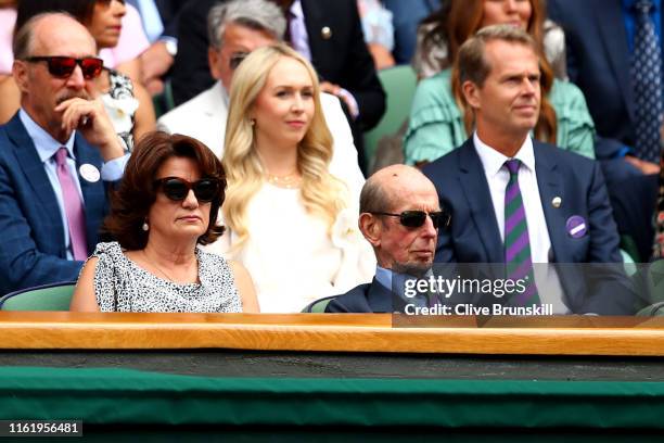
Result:
[[[449,66],[469,37],[496,24],[522,27],[539,46],[542,97],[534,137],[595,157],[595,124],[583,92],[571,83],[556,79],[544,56],[546,11],[541,0],[451,0],[443,8],[437,15],[442,22],[423,45],[444,45],[445,54],[438,58],[447,67],[418,85],[404,142],[407,164],[436,160],[472,134],[472,110],[464,103],[458,74]]]

